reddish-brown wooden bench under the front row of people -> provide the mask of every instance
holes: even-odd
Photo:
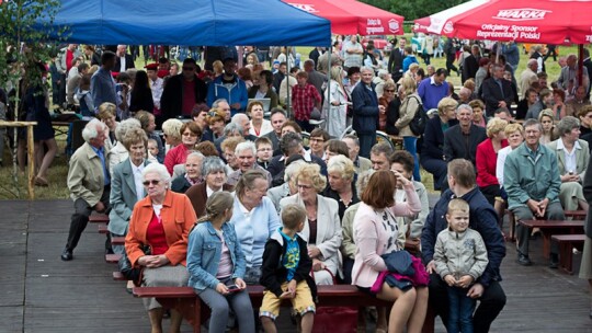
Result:
[[[352,285],[317,286],[319,302],[317,307],[390,307],[391,302],[376,299],[357,290]],[[253,308],[261,307],[263,286],[248,286],[249,297]],[[192,326],[193,332],[201,332],[202,300],[191,287],[135,287],[136,297],[155,297],[166,308],[177,309]],[[289,305],[289,301],[286,300]],[[424,331],[426,332],[426,331]],[[429,332],[429,331],[428,331]],[[433,331],[432,331],[433,332]]]

